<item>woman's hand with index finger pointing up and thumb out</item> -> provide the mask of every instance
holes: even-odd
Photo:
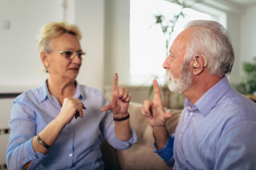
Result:
[[[122,115],[127,113],[130,100],[131,95],[129,95],[129,91],[127,89],[120,87],[118,90],[118,75],[115,74],[113,80],[111,103],[103,106],[100,111],[111,110],[114,114],[114,117],[120,118]]]

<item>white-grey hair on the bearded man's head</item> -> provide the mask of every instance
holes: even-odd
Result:
[[[190,60],[195,53],[202,53],[207,58],[207,68],[211,75],[228,76],[235,57],[227,30],[211,20],[193,20],[185,29],[189,27],[195,27],[195,30],[188,41],[185,60]]]

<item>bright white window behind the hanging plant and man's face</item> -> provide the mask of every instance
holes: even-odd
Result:
[[[162,65],[166,59],[165,37],[160,25],[154,24],[154,15],[173,17],[180,12],[180,6],[160,0],[131,0],[130,12],[130,74],[131,85],[150,85],[155,76],[159,84],[165,83],[165,70]],[[175,24],[171,41],[191,20],[216,20],[215,17],[185,8],[185,18]]]

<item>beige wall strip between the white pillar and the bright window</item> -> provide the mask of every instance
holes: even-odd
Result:
[[[130,82],[130,1],[106,0],[104,83],[112,84],[118,73],[119,85]]]

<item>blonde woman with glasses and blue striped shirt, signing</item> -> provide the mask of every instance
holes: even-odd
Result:
[[[118,150],[136,142],[127,112],[131,96],[118,89],[117,74],[110,104],[102,91],[77,83],[85,55],[80,39],[76,25],[42,27],[38,48],[49,78],[13,101],[9,169],[104,169],[102,136]]]

